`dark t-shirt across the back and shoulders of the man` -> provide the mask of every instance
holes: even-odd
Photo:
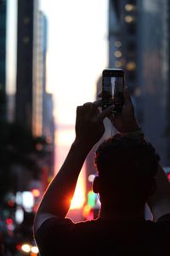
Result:
[[[49,218],[37,230],[41,256],[170,255],[170,214],[157,222]]]

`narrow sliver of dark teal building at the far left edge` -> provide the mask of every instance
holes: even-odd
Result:
[[[6,20],[7,1],[0,0],[0,122],[6,121]]]

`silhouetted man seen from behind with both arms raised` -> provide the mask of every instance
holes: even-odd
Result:
[[[46,255],[169,255],[170,188],[159,157],[135,119],[127,91],[122,113],[99,112],[99,102],[77,107],[76,138],[37,211],[34,234]],[[95,157],[99,218],[73,223],[65,218],[89,151],[109,117],[119,133],[102,143]],[[157,173],[157,174],[156,174]],[[148,203],[153,221],[144,219]]]

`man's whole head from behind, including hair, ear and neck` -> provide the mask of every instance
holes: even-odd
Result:
[[[144,207],[154,192],[159,156],[150,143],[141,138],[116,134],[99,145],[95,166],[99,177],[94,192],[111,207]]]

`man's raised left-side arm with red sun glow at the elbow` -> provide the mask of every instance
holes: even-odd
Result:
[[[103,119],[111,113],[112,107],[99,112],[99,102],[88,102],[77,107],[76,138],[63,166],[49,184],[37,210],[34,233],[48,218],[65,218],[71,206],[77,178],[91,148],[105,132]]]

